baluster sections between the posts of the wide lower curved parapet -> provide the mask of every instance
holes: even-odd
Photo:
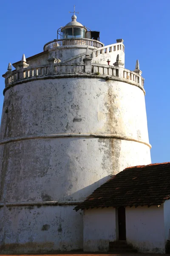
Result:
[[[85,73],[85,64],[82,63],[55,63],[54,64],[54,75],[61,74],[83,74]],[[126,70],[121,67],[114,67],[102,64],[91,64],[91,74],[101,75],[101,76],[117,76],[122,79],[127,79],[140,84],[142,87],[144,85],[144,79],[139,74]],[[14,70],[8,77],[6,77],[6,87],[16,81],[30,79],[40,76],[47,76],[48,65],[43,65],[39,67],[28,67],[20,70]]]

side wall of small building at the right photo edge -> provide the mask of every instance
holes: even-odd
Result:
[[[166,244],[170,240],[170,200],[164,202],[164,231]]]

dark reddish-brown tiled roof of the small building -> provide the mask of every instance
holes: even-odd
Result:
[[[170,163],[126,168],[74,209],[161,205],[170,199]]]

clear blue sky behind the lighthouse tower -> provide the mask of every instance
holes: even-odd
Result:
[[[100,31],[100,41],[123,38],[125,67],[134,70],[136,59],[145,79],[147,122],[152,163],[168,162],[170,145],[170,0],[45,1],[8,0],[0,7],[0,72],[43,51],[57,38],[57,29],[71,21],[73,5],[77,21]],[[0,115],[4,79],[0,77]]]

